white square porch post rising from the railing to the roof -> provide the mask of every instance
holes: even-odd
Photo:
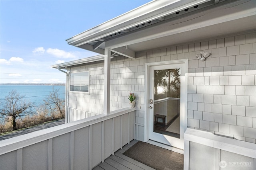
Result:
[[[105,49],[105,59],[104,59],[104,111],[105,115],[110,112],[110,48]]]

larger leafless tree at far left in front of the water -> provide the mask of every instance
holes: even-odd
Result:
[[[24,100],[25,96],[18,94],[16,90],[9,92],[8,96],[5,96],[5,100],[0,101],[0,114],[4,117],[9,117],[8,121],[12,121],[12,130],[16,130],[16,118],[21,119],[22,116],[26,116],[32,113],[31,108],[33,104]]]

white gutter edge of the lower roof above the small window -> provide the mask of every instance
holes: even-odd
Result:
[[[75,61],[70,61],[70,62],[66,62],[66,63],[61,63],[61,64],[56,64],[56,65],[52,65],[52,68],[58,68],[58,66],[60,66],[60,68],[65,68],[67,66],[74,66],[74,65],[78,65],[78,64],[85,64],[85,63],[92,63],[95,61],[102,61],[104,60],[104,55],[97,55],[97,56],[93,56],[93,57],[88,57],[85,59],[79,59],[79,60],[75,60]]]

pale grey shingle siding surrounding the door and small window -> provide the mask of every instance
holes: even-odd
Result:
[[[211,53],[206,61],[196,59]],[[136,53],[136,59],[114,57],[110,72],[110,110],[128,107],[136,95],[136,139],[144,141],[145,63],[188,59],[188,127],[256,142],[256,33],[238,33],[208,41]],[[103,113],[104,63],[90,69],[90,95],[69,94],[69,106]]]

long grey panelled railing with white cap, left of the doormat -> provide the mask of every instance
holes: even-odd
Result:
[[[112,111],[0,142],[1,170],[91,170],[134,139],[135,108]]]

